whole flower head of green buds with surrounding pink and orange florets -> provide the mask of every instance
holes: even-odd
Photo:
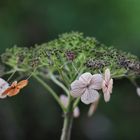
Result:
[[[81,74],[71,83],[70,92],[73,97],[81,98],[83,103],[91,104],[89,115],[96,110],[100,91],[103,92],[105,102],[110,100],[113,79],[130,79],[140,75],[140,61],[137,56],[107,47],[95,38],[85,37],[78,32],[62,34],[55,40],[31,48],[14,46],[6,49],[0,56],[0,63],[5,67],[5,70],[1,67],[0,76],[11,74],[13,71],[19,72],[20,76],[34,73],[34,78],[50,92],[53,92],[50,90],[51,86],[43,80],[46,72],[55,77],[47,75],[47,79],[53,80],[67,94],[70,83],[77,74]],[[111,74],[106,68],[111,69]],[[10,85],[0,78],[0,98],[18,94],[27,84],[28,80],[22,80]],[[137,88],[137,93],[140,95],[140,88]],[[67,96],[59,98],[54,93],[52,95],[57,98],[60,106],[63,104],[65,108],[68,107]],[[78,114],[78,109],[75,110]]]

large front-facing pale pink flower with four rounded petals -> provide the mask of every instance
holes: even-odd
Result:
[[[90,104],[98,100],[99,93],[97,90],[102,88],[102,75],[89,72],[82,74],[78,80],[71,84],[71,95],[81,97],[81,101]]]

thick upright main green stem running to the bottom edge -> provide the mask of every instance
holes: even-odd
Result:
[[[67,112],[64,114],[64,123],[61,134],[61,140],[70,140],[72,123],[73,123],[73,100],[71,100],[70,97]]]

